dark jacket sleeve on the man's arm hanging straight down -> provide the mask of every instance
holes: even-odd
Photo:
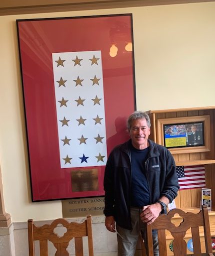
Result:
[[[104,215],[114,216],[114,167],[112,165],[112,154],[110,153],[104,172]]]

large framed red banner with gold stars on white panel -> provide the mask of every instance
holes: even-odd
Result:
[[[135,110],[132,15],[16,25],[32,201],[103,196]]]

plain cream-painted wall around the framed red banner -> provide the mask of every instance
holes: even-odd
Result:
[[[215,3],[0,17],[0,165],[13,222],[61,217],[61,202],[30,201],[16,19],[133,14],[137,109],[215,105]]]

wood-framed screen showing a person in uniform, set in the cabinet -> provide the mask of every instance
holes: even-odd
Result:
[[[158,144],[172,154],[210,151],[209,125],[209,115],[158,119]]]

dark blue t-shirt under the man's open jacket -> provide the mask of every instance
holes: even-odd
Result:
[[[139,207],[150,203],[148,183],[145,177],[145,161],[149,147],[137,150],[130,145],[131,151],[131,206]]]

